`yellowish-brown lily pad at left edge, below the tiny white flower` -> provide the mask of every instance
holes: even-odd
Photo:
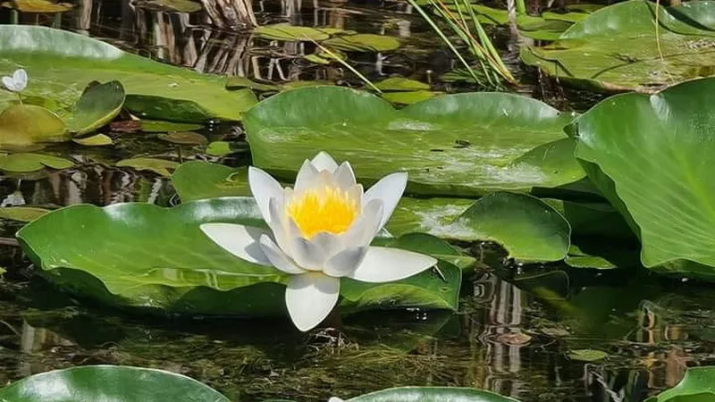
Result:
[[[23,147],[70,138],[64,122],[44,107],[13,105],[0,112],[0,147]]]

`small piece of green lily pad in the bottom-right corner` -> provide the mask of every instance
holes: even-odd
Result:
[[[645,402],[708,402],[715,398],[715,367],[689,367],[682,381]]]

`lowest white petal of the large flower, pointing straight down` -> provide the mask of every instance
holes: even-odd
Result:
[[[323,322],[338,302],[341,281],[319,272],[290,277],[285,304],[290,319],[300,331],[309,331]]]

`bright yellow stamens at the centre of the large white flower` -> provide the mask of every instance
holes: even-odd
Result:
[[[357,218],[357,202],[346,191],[327,186],[293,198],[286,210],[306,239],[322,231],[342,233]]]

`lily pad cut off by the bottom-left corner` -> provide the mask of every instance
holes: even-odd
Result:
[[[122,365],[87,365],[39,373],[0,389],[13,402],[229,402],[208,386],[181,374]]]

